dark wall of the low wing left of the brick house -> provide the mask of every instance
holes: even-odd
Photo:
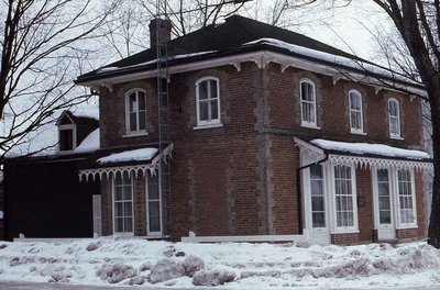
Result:
[[[92,236],[92,194],[99,183],[79,182],[81,159],[13,161],[4,166],[4,230],[11,239]]]

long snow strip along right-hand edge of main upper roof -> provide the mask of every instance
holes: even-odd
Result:
[[[389,77],[389,78],[398,79],[400,81],[420,86],[419,82],[416,82],[409,78],[398,75],[397,72],[394,72],[389,69],[380,67],[378,65],[373,65],[371,63],[360,62],[358,59],[353,59],[353,58],[349,58],[349,57],[344,57],[344,56],[340,56],[340,55],[334,55],[334,54],[330,54],[330,53],[326,53],[326,52],[320,52],[320,51],[304,47],[300,45],[286,43],[286,42],[279,41],[279,40],[260,38],[260,40],[256,40],[253,42],[245,43],[244,45],[252,45],[252,44],[257,44],[257,43],[266,43],[272,46],[287,49],[292,53],[299,54],[302,56],[308,56],[308,57],[312,57],[312,58],[316,58],[319,60],[333,63],[336,65],[342,65],[342,66],[353,68],[353,69],[366,70],[366,71],[370,71],[373,74],[382,75],[385,77]]]

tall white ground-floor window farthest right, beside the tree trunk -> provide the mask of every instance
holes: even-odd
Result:
[[[408,169],[397,170],[397,190],[400,224],[415,224],[416,214],[414,209],[413,178]]]

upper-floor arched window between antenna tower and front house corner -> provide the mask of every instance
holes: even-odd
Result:
[[[220,123],[219,79],[205,77],[196,81],[197,125],[206,126]]]

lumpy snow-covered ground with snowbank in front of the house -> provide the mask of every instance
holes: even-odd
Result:
[[[440,286],[440,250],[426,243],[334,246],[185,244],[101,237],[0,243],[0,281],[227,289]]]

